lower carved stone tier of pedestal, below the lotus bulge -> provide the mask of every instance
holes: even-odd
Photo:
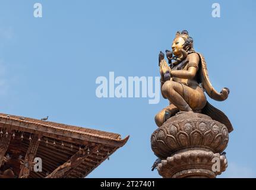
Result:
[[[220,160],[219,172],[213,172],[212,166],[214,158]],[[177,153],[172,157],[167,157],[158,164],[158,172],[163,178],[215,178],[227,168],[227,159],[225,155],[213,153],[206,150],[187,150],[183,153]]]

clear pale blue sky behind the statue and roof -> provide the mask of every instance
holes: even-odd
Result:
[[[43,5],[43,18],[33,5]],[[220,4],[220,18],[211,5]],[[159,76],[159,50],[187,29],[233,124],[221,176],[256,177],[256,1],[0,1],[0,112],[116,132],[128,143],[89,178],[159,178],[150,137],[167,106],[147,98],[99,99],[99,76]],[[210,98],[208,98],[209,100]]]

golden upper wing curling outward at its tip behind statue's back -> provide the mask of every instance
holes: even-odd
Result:
[[[200,71],[200,80],[203,85],[204,90],[206,90],[206,93],[208,96],[211,97],[211,99],[217,100],[217,101],[223,101],[227,99],[227,96],[229,96],[229,88],[222,88],[222,91],[218,93],[213,86],[210,83],[210,79],[208,76],[206,61],[204,59],[204,56],[201,55],[201,53],[198,53],[201,59],[201,64],[199,65],[199,71]]]

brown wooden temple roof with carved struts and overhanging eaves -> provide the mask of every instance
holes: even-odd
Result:
[[[43,171],[32,170],[28,178],[84,178],[108,159],[110,154],[127,143],[129,138],[122,140],[121,135],[112,132],[5,113],[0,113],[0,129],[3,136],[1,138],[7,138],[8,135],[8,138],[11,137],[8,149],[4,153],[11,159],[0,166],[2,170],[11,167],[17,177],[21,170],[20,158],[25,158],[29,150],[34,151],[34,142],[34,157],[42,159]],[[62,172],[59,172],[60,170]]]

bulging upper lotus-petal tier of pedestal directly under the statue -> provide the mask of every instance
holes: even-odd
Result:
[[[187,117],[183,119],[179,119]],[[166,159],[181,148],[206,147],[222,153],[229,135],[225,125],[200,113],[182,113],[170,118],[151,136],[151,147],[157,157]]]

